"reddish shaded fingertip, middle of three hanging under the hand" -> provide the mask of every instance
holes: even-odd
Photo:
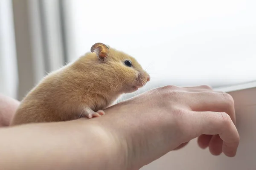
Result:
[[[213,135],[211,141],[209,142],[209,151],[212,155],[220,155],[222,153],[222,139],[219,135]]]

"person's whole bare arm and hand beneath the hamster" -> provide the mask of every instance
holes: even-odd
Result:
[[[239,145],[232,97],[204,86],[154,89],[105,112],[0,129],[0,167],[138,170],[198,136],[214,155],[233,157]]]

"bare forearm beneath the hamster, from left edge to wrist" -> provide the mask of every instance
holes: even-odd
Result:
[[[0,136],[0,167],[6,170],[124,167],[115,137],[84,119],[3,128]]]

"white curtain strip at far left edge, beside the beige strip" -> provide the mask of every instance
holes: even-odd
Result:
[[[12,1],[0,0],[0,93],[17,98],[17,83]]]

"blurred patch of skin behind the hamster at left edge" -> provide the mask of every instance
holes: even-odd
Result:
[[[0,127],[9,126],[20,102],[0,94]]]

